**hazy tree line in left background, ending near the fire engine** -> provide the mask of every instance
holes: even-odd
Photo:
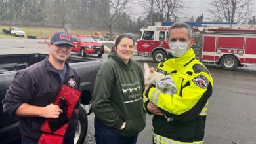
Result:
[[[147,26],[125,12],[128,0],[1,0],[0,21],[16,26],[100,29],[137,33]]]

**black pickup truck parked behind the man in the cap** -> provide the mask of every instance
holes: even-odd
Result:
[[[0,101],[5,97],[5,92],[14,79],[16,71],[25,69],[41,60],[47,54],[9,54],[0,55]],[[70,56],[67,60],[70,67],[73,67],[81,76],[81,105],[79,107],[79,122],[75,133],[75,143],[83,143],[87,134],[87,114],[85,105],[91,103],[93,83],[95,82],[96,71],[102,64],[101,60]],[[0,102],[0,143],[20,143],[19,120],[11,120],[3,113],[3,105]],[[88,111],[88,110],[87,110]]]

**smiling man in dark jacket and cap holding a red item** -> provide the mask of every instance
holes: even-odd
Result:
[[[75,89],[80,86],[78,73],[66,63],[73,46],[72,36],[66,32],[54,33],[48,46],[49,57],[18,71],[3,99],[5,113],[20,118],[22,143],[38,143],[43,122],[47,118],[56,119],[63,112],[53,104],[63,84]],[[79,103],[76,112],[78,106]],[[77,120],[73,113],[64,143],[74,143]]]

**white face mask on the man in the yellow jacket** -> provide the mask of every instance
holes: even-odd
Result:
[[[177,58],[183,56],[188,51],[188,43],[186,42],[168,42],[171,48],[171,54]]]

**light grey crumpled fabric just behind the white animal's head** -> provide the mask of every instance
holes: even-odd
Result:
[[[156,82],[156,88],[165,94],[170,94],[171,96],[175,94],[176,91],[176,86],[173,82],[173,78],[171,78],[171,75],[167,75],[160,81]]]

